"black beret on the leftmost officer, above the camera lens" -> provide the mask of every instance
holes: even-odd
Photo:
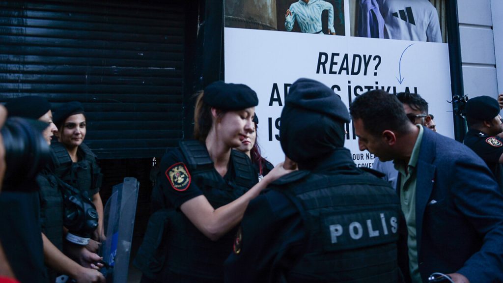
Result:
[[[41,96],[14,98],[5,104],[9,117],[22,117],[38,120],[51,110],[51,104]]]

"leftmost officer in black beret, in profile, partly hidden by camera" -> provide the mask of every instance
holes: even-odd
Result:
[[[48,145],[51,144],[51,138],[56,132],[57,128],[54,125],[52,119],[52,112],[50,110],[50,103],[43,97],[39,96],[24,96],[10,100],[6,104],[9,110],[9,117],[24,117],[30,119],[37,119],[42,122],[46,122],[46,128],[42,132],[42,135]],[[39,187],[38,196],[39,201],[37,205],[28,204],[26,207],[20,207],[22,211],[25,211],[23,215],[30,213],[30,209],[34,207],[40,207],[40,224],[42,228],[42,242],[43,242],[43,260],[35,256],[37,249],[38,239],[29,240],[29,244],[24,246],[29,248],[26,253],[30,255],[32,261],[39,260],[40,263],[45,261],[46,267],[48,267],[48,278],[49,282],[54,282],[56,277],[56,272],[67,274],[74,278],[78,282],[96,282],[104,281],[103,275],[97,270],[98,267],[94,266],[94,269],[86,268],[91,267],[91,263],[88,262],[86,266],[80,266],[70,258],[63,255],[62,250],[62,240],[63,240],[63,204],[61,198],[61,191],[58,188],[58,183],[54,174],[52,173],[52,166],[47,164],[44,169],[36,177],[36,186]],[[13,203],[10,203],[13,204]],[[15,203],[14,203],[15,204]],[[38,205],[39,204],[39,205]],[[0,205],[1,207],[2,205]],[[5,207],[4,207],[5,208]],[[37,210],[37,208],[35,208]],[[15,223],[23,223],[23,221],[17,221]],[[25,224],[26,225],[26,224]],[[39,228],[40,229],[40,228]],[[26,228],[26,231],[30,231],[31,237],[37,235],[35,227]],[[10,229],[14,231],[14,229]],[[23,237],[19,237],[20,234],[13,233],[17,236],[17,241],[22,241]],[[39,238],[40,239],[40,238]],[[14,246],[16,254],[23,254],[23,250],[19,249],[17,245],[9,245],[7,251],[11,250]],[[21,246],[21,245],[20,245]],[[18,259],[19,257],[16,257]],[[98,261],[100,257],[97,254],[91,253],[85,249],[79,251],[79,258],[83,261]],[[81,263],[84,263],[81,261]],[[16,261],[14,261],[13,267],[19,267],[19,272],[16,274],[21,282],[43,282],[37,269],[29,264],[21,264],[18,266]],[[30,272],[25,272],[27,268]],[[15,270],[17,271],[17,270]]]

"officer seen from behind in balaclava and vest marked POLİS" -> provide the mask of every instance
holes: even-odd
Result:
[[[400,204],[344,148],[349,121],[330,88],[310,79],[291,86],[281,147],[299,171],[249,203],[225,263],[226,282],[398,281]]]

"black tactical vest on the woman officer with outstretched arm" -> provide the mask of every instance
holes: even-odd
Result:
[[[226,183],[214,170],[206,147],[201,143],[196,140],[185,141],[180,143],[180,148],[187,159],[192,182],[197,184],[215,209],[235,200],[257,183],[251,161],[240,152],[231,151],[230,162],[235,178]],[[171,272],[197,277],[199,280],[222,281],[223,262],[232,251],[236,229],[213,242],[178,211],[170,221],[167,267]]]

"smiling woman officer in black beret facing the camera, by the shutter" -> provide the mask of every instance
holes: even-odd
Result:
[[[93,230],[94,234],[89,231],[88,233],[70,231],[66,239],[77,245],[86,245],[89,242],[88,248],[97,252],[97,242],[105,238],[103,202],[100,197],[102,174],[96,156],[83,143],[87,132],[84,108],[76,101],[65,103],[55,110],[53,120],[58,128],[55,133],[58,141],[51,144],[55,154],[55,173],[63,182],[78,189],[87,198],[91,198],[98,213],[98,228],[88,229]],[[95,241],[90,240],[90,236]]]

